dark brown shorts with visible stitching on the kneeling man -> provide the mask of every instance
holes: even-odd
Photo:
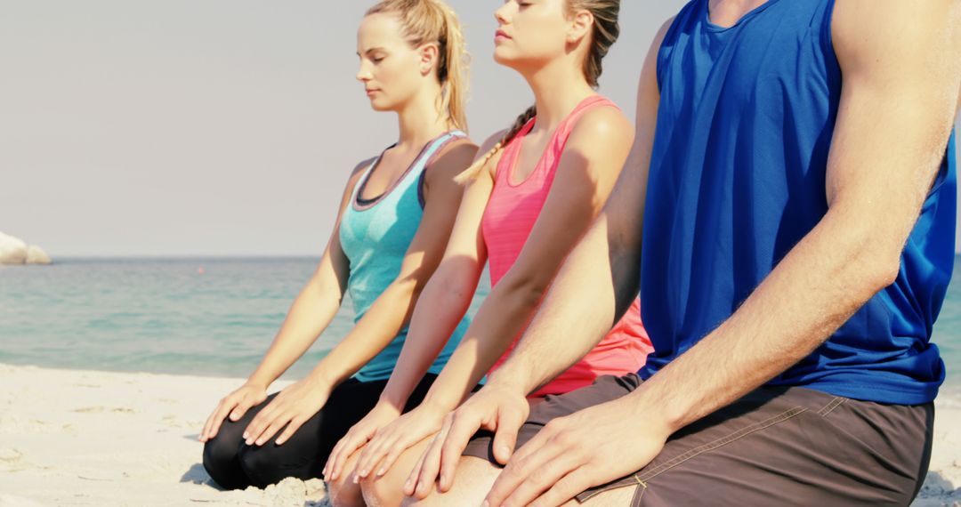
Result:
[[[621,398],[635,374],[550,396],[530,412],[517,446],[551,420]],[[634,488],[632,506],[908,505],[927,472],[934,405],[886,405],[800,387],[762,387],[671,436],[644,469],[577,496]],[[492,434],[464,451],[496,463]],[[611,456],[617,459],[616,456]]]

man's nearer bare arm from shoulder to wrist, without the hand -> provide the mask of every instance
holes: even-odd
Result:
[[[677,430],[810,354],[898,276],[961,89],[961,2],[836,5],[844,74],[824,219],[722,326],[632,393]]]

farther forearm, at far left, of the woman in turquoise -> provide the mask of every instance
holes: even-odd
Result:
[[[280,331],[247,383],[269,387],[307,352],[331,324],[339,307],[339,290],[325,289],[313,280],[308,282],[291,304]]]

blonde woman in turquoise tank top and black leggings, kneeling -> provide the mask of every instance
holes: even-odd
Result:
[[[333,446],[377,404],[454,226],[463,195],[456,176],[477,153],[463,132],[464,37],[440,0],[375,5],[360,23],[357,56],[357,80],[373,109],[397,113],[399,139],[351,173],[314,275],[257,370],[220,400],[201,432],[204,466],[225,489],[319,477]],[[306,378],[267,396],[346,294],[355,326]],[[424,397],[468,324],[451,328],[398,415]]]

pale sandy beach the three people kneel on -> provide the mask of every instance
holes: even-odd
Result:
[[[326,505],[319,479],[241,492],[209,482],[197,434],[239,382],[0,365],[0,507]],[[937,405],[914,505],[961,506],[961,398]]]

